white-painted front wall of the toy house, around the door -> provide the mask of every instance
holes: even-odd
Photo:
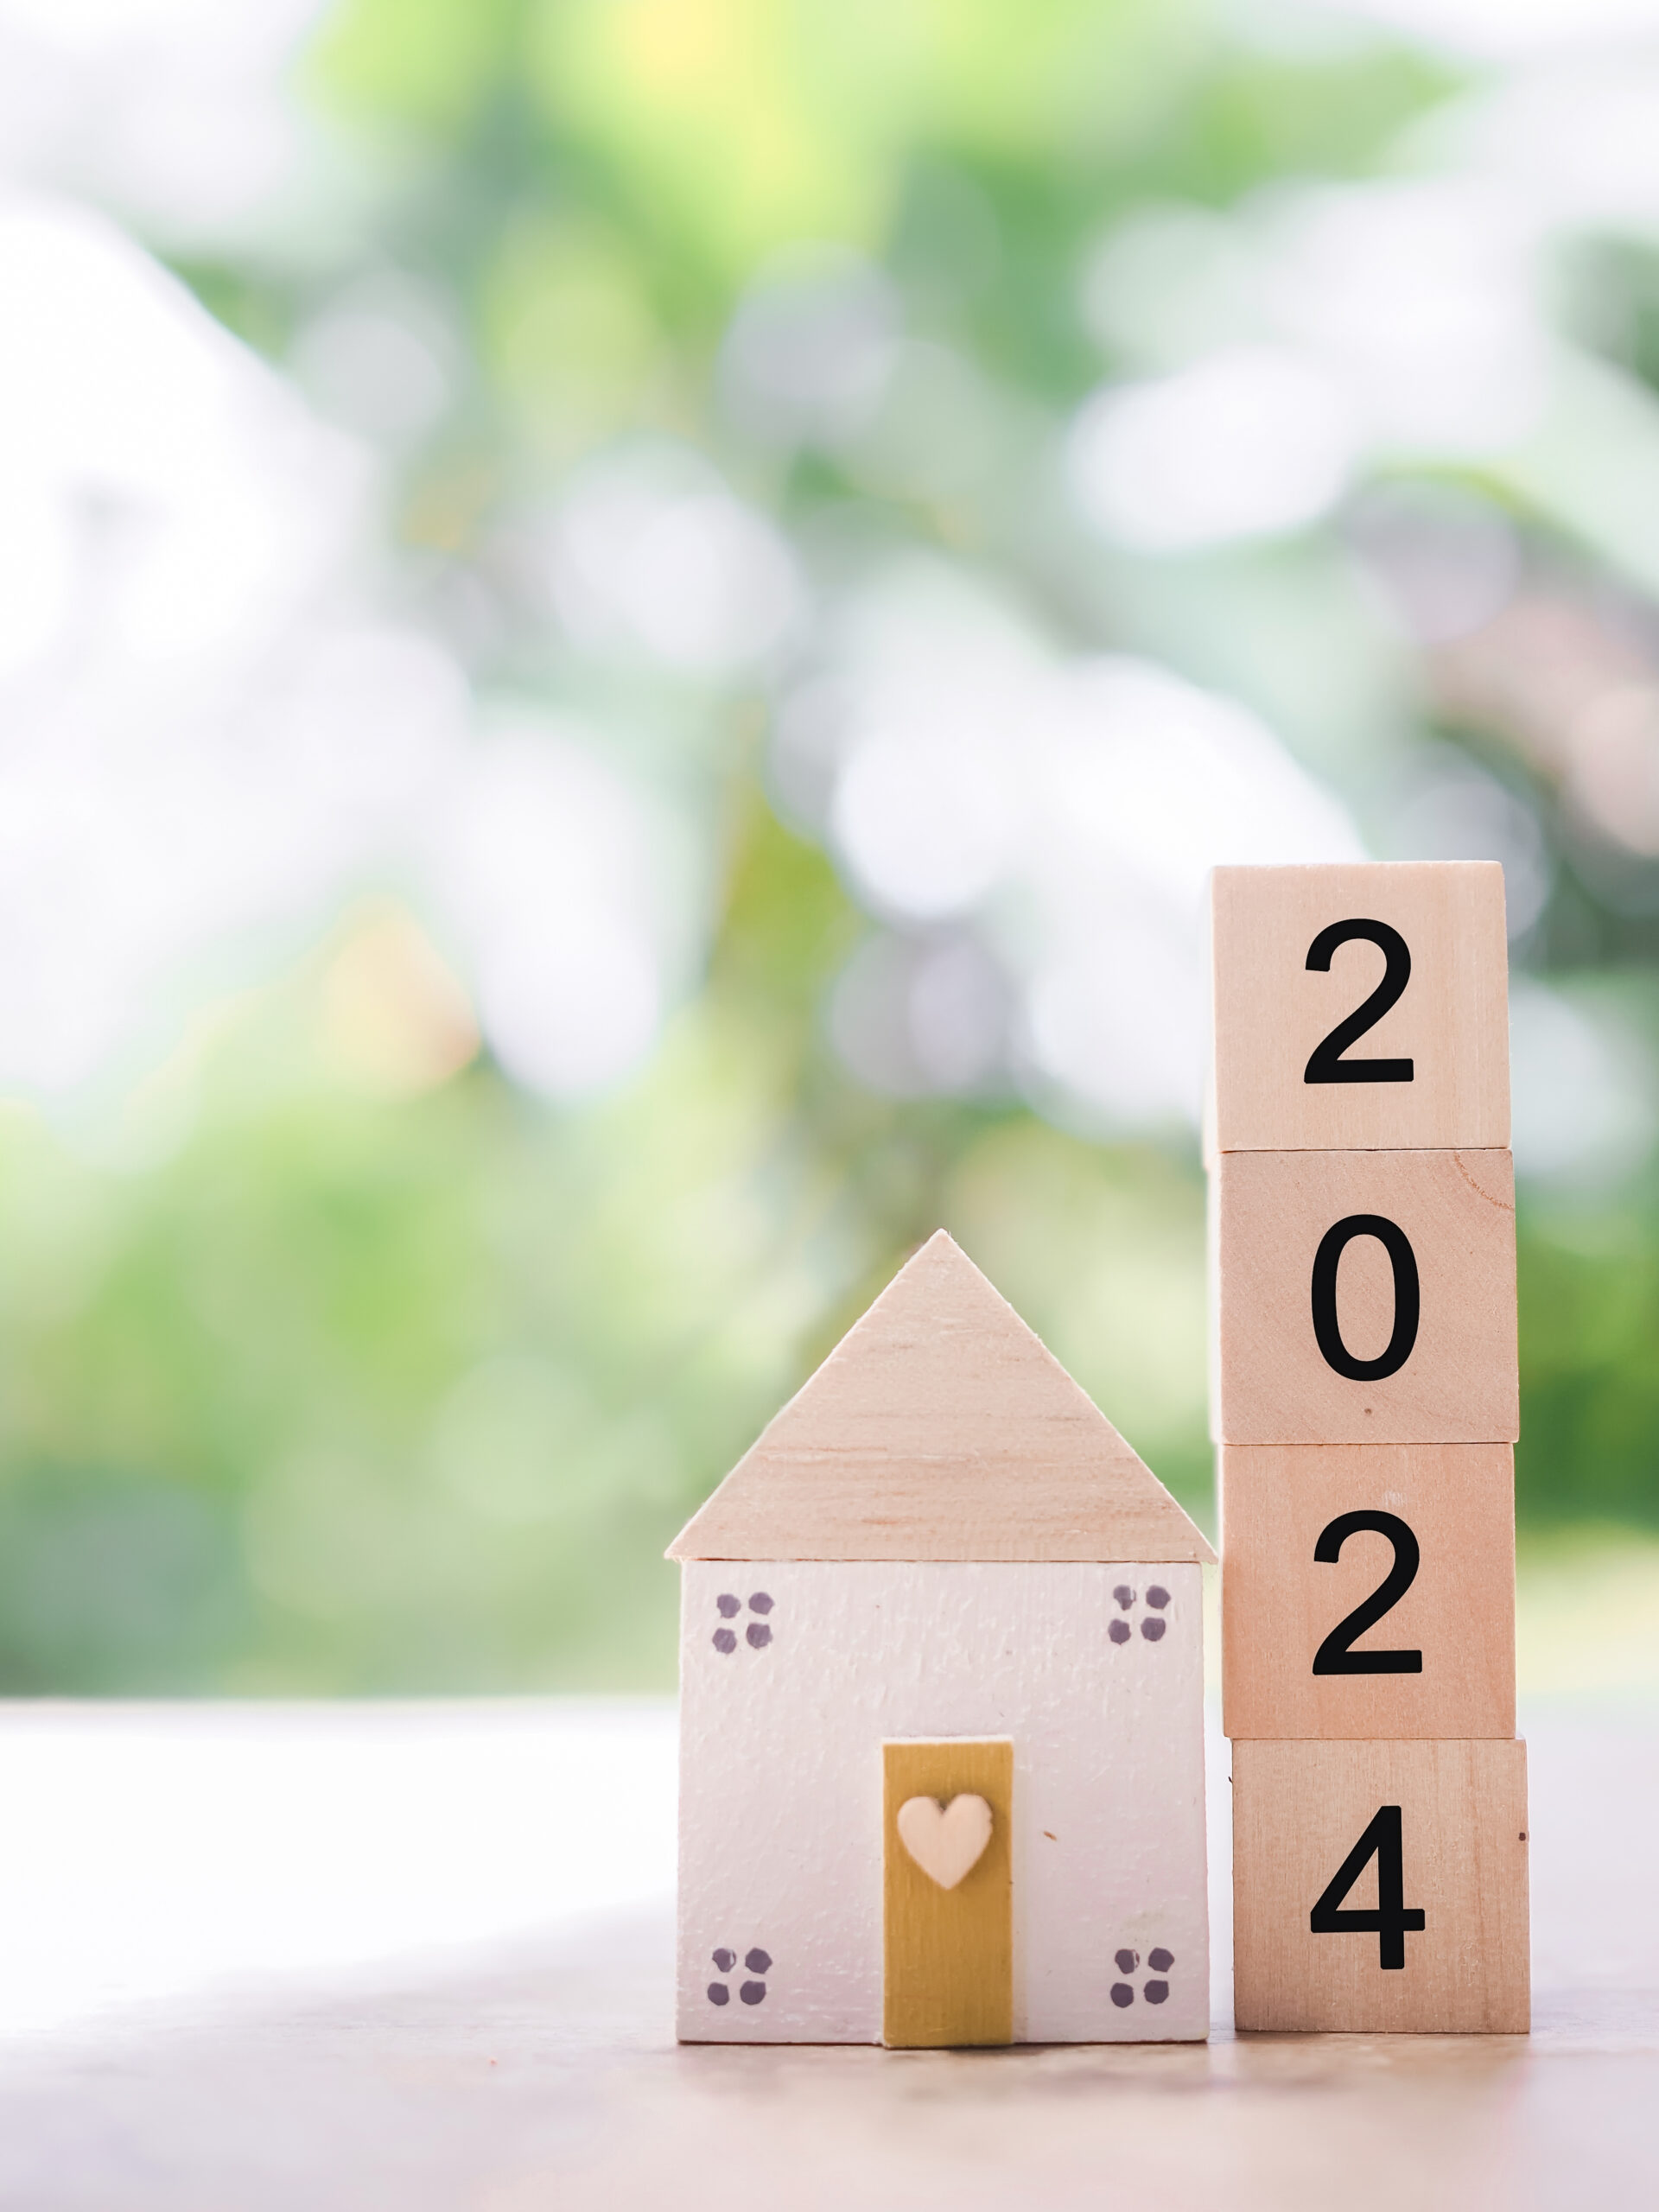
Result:
[[[1201,1584],[1197,1566],[1108,1562],[692,1559],[679,2037],[880,2042],[883,1743],[998,1736],[1015,1770],[1015,2042],[1201,2039]],[[759,2002],[741,1995],[750,1949],[770,1960]],[[1133,2002],[1113,2000],[1119,1951]]]

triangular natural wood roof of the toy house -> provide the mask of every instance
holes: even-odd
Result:
[[[668,1546],[670,1559],[1214,1559],[940,1230]]]

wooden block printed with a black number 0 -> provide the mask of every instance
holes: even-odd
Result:
[[[1214,1203],[1221,1442],[1515,1440],[1509,1152],[1223,1152]]]

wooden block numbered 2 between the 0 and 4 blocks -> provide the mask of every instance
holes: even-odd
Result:
[[[1225,1444],[1230,1736],[1513,1736],[1509,1444]]]

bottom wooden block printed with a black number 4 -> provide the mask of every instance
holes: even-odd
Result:
[[[1237,1743],[1234,2020],[1531,2024],[1524,1743]]]

